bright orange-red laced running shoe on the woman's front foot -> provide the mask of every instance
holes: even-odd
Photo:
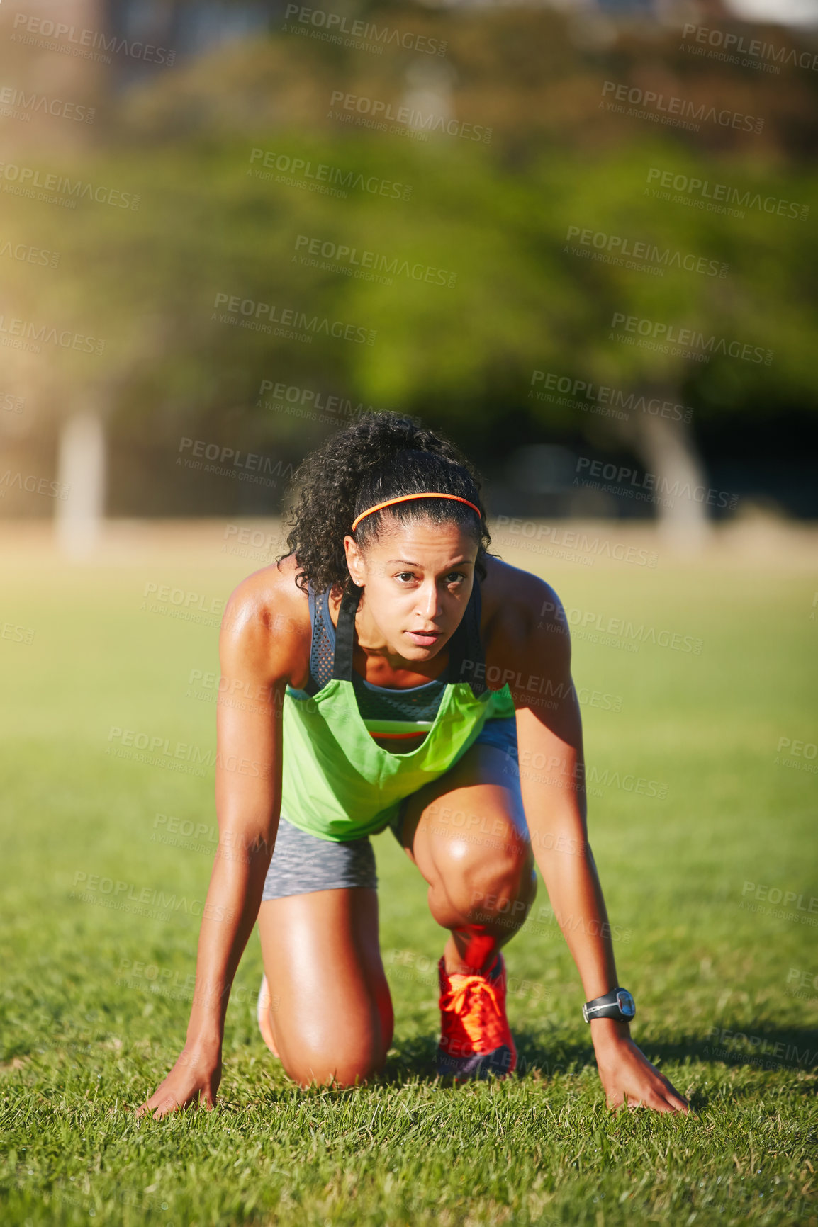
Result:
[[[459,975],[437,964],[441,1038],[437,1072],[458,1080],[505,1077],[517,1067],[517,1049],[506,1018],[506,964],[502,955],[491,971]]]

